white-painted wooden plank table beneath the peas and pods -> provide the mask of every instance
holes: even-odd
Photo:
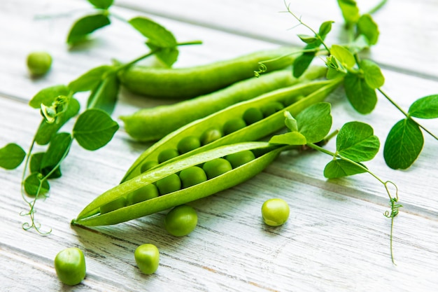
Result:
[[[364,10],[376,1],[360,1]],[[336,1],[295,1],[291,8],[313,27],[334,20],[336,41],[341,14]],[[88,46],[68,50],[64,40],[74,20],[87,13],[86,1],[2,0],[0,2],[0,146],[15,142],[27,148],[41,116],[27,102],[39,90],[65,84],[112,58],[129,61],[142,55],[142,38],[121,22],[94,35]],[[179,41],[200,39],[202,46],[181,48],[176,67],[205,64],[283,44],[300,45],[303,32],[284,11],[282,0],[115,1],[126,18],[143,15],[169,28]],[[69,13],[72,12],[73,13]],[[69,14],[66,14],[69,13]],[[38,18],[37,15],[58,15]],[[438,2],[388,1],[374,15],[379,44],[369,57],[386,76],[384,89],[407,109],[418,97],[438,93]],[[48,50],[50,73],[29,78],[25,57]],[[379,97],[370,115],[355,113],[335,93],[334,127],[362,120],[384,137],[402,118]],[[83,99],[85,100],[85,99]],[[83,101],[82,100],[82,101]],[[114,117],[154,102],[122,92]],[[122,125],[122,123],[120,123]],[[437,121],[425,123],[438,133]],[[329,144],[327,147],[333,146]],[[330,157],[318,153],[285,155],[254,179],[194,202],[197,229],[174,238],[163,228],[164,212],[93,230],[73,228],[72,218],[96,195],[111,188],[147,147],[121,128],[106,147],[89,152],[73,145],[63,162],[63,177],[52,181],[50,197],[37,204],[42,236],[24,231],[20,216],[22,167],[0,171],[1,291],[438,291],[438,151],[425,136],[414,167],[389,169],[382,151],[367,166],[397,183],[400,203],[395,218],[394,254],[390,260],[388,197],[367,174],[327,181],[323,167]],[[260,218],[264,200],[282,197],[290,204],[288,223],[268,228]],[[161,252],[153,275],[139,272],[134,249],[146,242]],[[87,260],[87,277],[78,286],[62,285],[53,259],[78,246]]]

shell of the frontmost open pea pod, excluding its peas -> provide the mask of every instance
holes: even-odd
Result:
[[[272,145],[267,142],[245,142],[221,146],[187,156],[180,160],[174,160],[174,162],[169,162],[155,169],[151,169],[148,172],[144,172],[134,177],[134,179],[125,181],[99,195],[99,197],[88,204],[83,211],[80,211],[78,217],[71,223],[86,226],[113,225],[201,199],[202,197],[236,186],[262,172],[265,167],[274,161],[281,151],[289,147],[290,146]],[[144,200],[143,202],[128,204],[113,211],[101,213],[101,208],[106,204],[120,200],[120,198],[126,197],[143,186],[157,183],[160,179],[164,179],[173,174],[179,174],[189,167],[205,165],[206,162],[211,160],[226,158],[227,155],[241,153],[242,151],[251,151],[255,156],[252,160],[232,168],[223,174],[189,186],[188,188],[182,188],[165,195]]]

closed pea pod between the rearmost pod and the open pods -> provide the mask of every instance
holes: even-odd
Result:
[[[290,70],[278,70],[229,85],[193,99],[174,104],[140,109],[120,119],[130,137],[138,141],[156,141],[193,120],[204,118],[227,106],[253,99],[266,92],[311,81],[325,76],[325,67],[311,67],[300,78],[294,78]],[[196,87],[197,85],[195,85]]]

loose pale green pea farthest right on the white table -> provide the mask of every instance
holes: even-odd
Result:
[[[269,226],[283,225],[289,218],[289,205],[283,199],[269,199],[262,205],[262,217]]]

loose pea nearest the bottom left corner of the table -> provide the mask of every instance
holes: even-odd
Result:
[[[84,253],[77,247],[69,247],[59,251],[55,256],[57,277],[66,285],[77,285],[86,274]]]

